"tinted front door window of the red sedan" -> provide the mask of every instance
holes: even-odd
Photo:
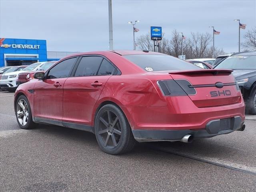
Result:
[[[47,78],[48,79],[54,79],[54,78],[65,78],[68,77],[70,74],[70,70],[76,61],[75,58],[66,59],[60,63],[58,63],[56,66],[50,69]]]

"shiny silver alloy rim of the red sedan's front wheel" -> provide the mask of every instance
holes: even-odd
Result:
[[[17,118],[22,126],[28,123],[28,104],[24,99],[20,99],[16,109]]]

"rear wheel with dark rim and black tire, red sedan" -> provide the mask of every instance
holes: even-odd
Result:
[[[129,152],[136,144],[126,116],[114,104],[106,104],[98,111],[95,135],[100,148],[112,155]]]

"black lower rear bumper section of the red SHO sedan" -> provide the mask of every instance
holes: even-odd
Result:
[[[194,139],[211,138],[221,134],[229,134],[244,125],[240,116],[212,120],[203,130],[132,130],[138,142],[180,141],[185,135],[193,135]]]

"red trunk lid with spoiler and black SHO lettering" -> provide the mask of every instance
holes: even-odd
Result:
[[[196,94],[188,95],[197,107],[222,106],[238,103],[241,93],[236,88],[232,70],[191,70],[173,71],[170,76],[190,82]]]

